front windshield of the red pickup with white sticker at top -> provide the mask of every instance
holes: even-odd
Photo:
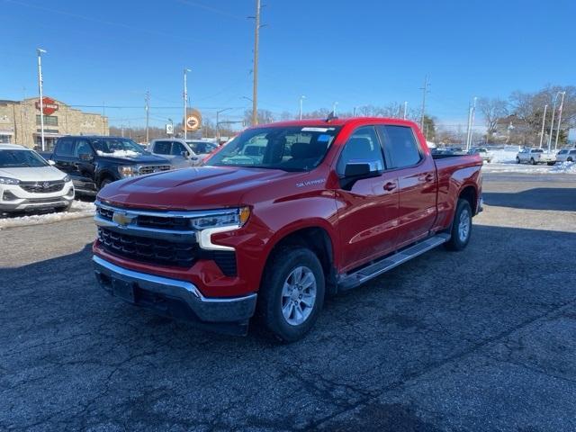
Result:
[[[320,164],[338,130],[302,126],[249,129],[229,141],[206,165],[307,171]]]

